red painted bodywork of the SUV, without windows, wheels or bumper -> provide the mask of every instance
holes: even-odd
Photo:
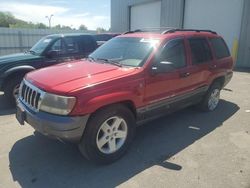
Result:
[[[184,37],[187,54],[185,68],[159,75],[151,75],[152,59],[158,48],[169,39]],[[134,33],[118,37],[143,37],[159,39],[159,46],[141,68],[124,68],[114,65],[85,61],[60,64],[29,73],[26,79],[47,92],[75,96],[77,103],[71,115],[84,115],[112,103],[130,101],[135,108],[154,101],[183,94],[204,84],[209,85],[218,76],[232,71],[231,57],[192,65],[187,38],[194,36],[218,37],[207,32],[175,32],[171,34]],[[210,46],[211,48],[211,46]],[[211,66],[216,65],[216,69]],[[187,78],[181,73],[190,72]]]

